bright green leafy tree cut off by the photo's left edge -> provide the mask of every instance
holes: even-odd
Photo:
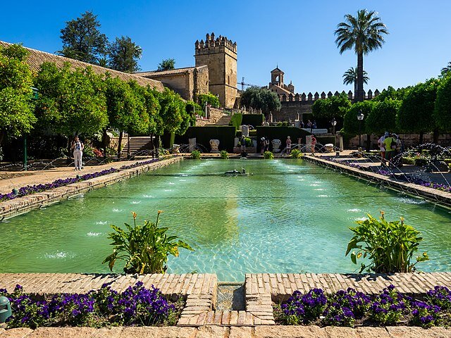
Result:
[[[6,134],[18,137],[36,122],[32,112],[32,73],[23,46],[0,46],[0,144]]]

